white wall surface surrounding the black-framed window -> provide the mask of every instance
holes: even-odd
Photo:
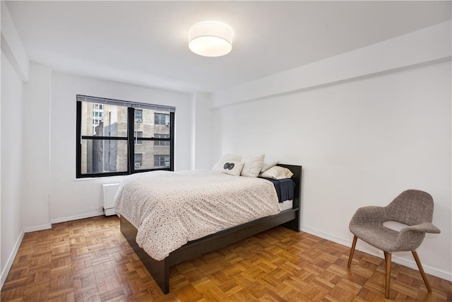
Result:
[[[191,167],[191,95],[84,76],[52,73],[50,112],[50,219],[52,223],[102,214],[102,183],[76,180],[76,95],[176,107],[175,170]]]

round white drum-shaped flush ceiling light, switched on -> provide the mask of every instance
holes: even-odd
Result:
[[[225,23],[204,21],[189,29],[189,48],[204,57],[220,57],[232,50],[232,29]]]

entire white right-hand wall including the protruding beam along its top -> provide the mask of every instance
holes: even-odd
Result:
[[[358,207],[429,192],[442,232],[419,254],[427,272],[452,281],[451,31],[439,23],[216,91],[213,154],[303,165],[302,230],[348,246]],[[416,267],[406,252],[393,260]]]

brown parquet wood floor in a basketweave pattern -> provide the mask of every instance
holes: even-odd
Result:
[[[384,301],[384,260],[283,227],[170,269],[163,295],[119,231],[117,216],[26,233],[1,301]],[[420,255],[422,260],[422,255]],[[452,283],[393,264],[396,301],[452,301]]]

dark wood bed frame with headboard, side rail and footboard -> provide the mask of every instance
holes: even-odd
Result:
[[[263,217],[248,223],[227,228],[224,231],[211,234],[209,236],[192,240],[182,247],[171,252],[164,260],[157,261],[150,257],[135,241],[137,229],[133,224],[121,216],[121,233],[129,241],[129,244],[135,250],[143,265],[148,269],[150,275],[157,282],[164,294],[169,293],[169,267],[182,263],[186,260],[192,260],[206,252],[218,250],[231,243],[238,242],[244,238],[254,236],[275,226],[285,226],[293,231],[299,231],[300,222],[300,196],[302,184],[302,166],[301,165],[282,165],[294,173],[292,180],[295,181],[295,197],[293,199],[292,209],[281,211],[277,215]]]

